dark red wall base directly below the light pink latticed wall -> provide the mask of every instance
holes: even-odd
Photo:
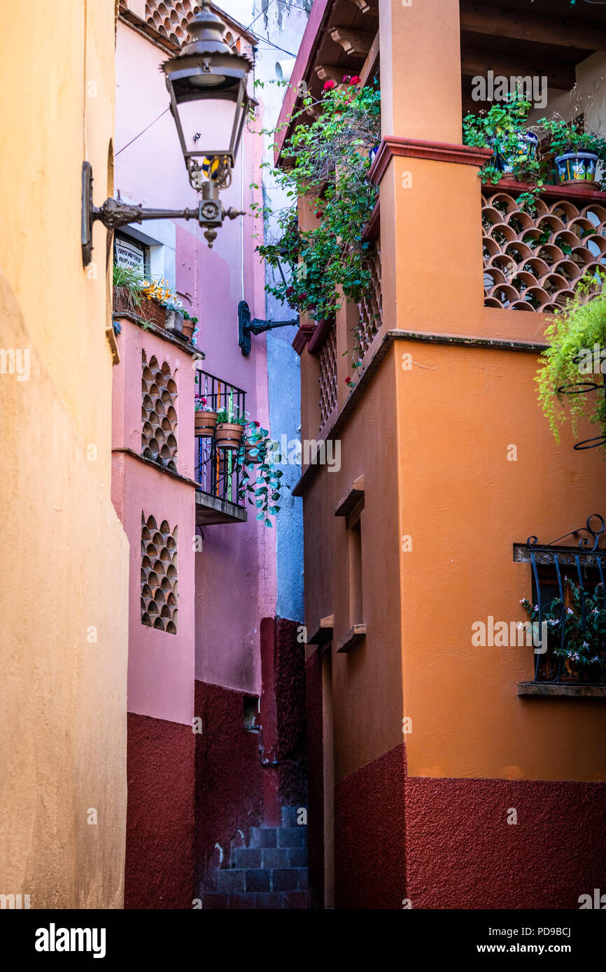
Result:
[[[128,712],[125,908],[192,908],[191,726]]]

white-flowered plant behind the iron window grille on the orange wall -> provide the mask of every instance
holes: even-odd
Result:
[[[578,584],[569,577],[564,577],[563,586],[564,591],[568,592],[567,603],[562,602],[561,598],[553,598],[551,604],[545,606],[541,613],[541,620],[547,622],[548,647],[558,658],[577,665],[592,665],[603,661],[606,647],[606,607],[602,585],[597,584],[592,591],[582,592]],[[519,603],[530,621],[539,621],[538,605],[530,604],[525,598]]]

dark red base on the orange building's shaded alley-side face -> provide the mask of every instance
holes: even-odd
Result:
[[[335,907],[402,908],[405,748],[394,746],[335,786]]]

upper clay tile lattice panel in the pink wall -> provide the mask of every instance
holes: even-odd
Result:
[[[177,471],[177,384],[170,366],[141,352],[141,455]]]

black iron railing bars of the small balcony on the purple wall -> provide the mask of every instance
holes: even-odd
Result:
[[[246,392],[206,371],[196,371],[195,392],[206,399],[208,411],[218,412],[222,408],[239,414],[246,411]],[[240,469],[236,453],[218,448],[212,436],[197,438],[196,481],[207,496],[243,506],[238,499]]]

